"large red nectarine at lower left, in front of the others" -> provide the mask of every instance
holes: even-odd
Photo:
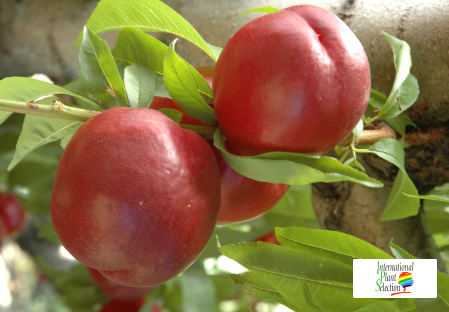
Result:
[[[78,261],[144,287],[196,260],[219,208],[220,172],[204,139],[158,111],[119,107],[86,121],[67,145],[51,218]]]

